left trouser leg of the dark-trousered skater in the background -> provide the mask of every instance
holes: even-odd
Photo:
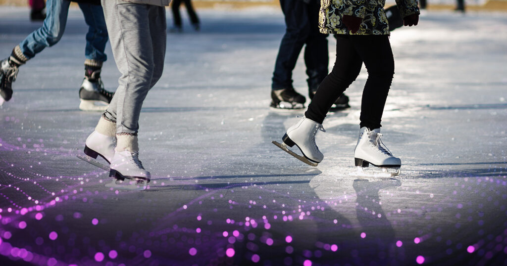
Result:
[[[292,71],[310,33],[307,5],[300,0],[280,0],[286,29],[276,57],[273,90],[292,88]]]

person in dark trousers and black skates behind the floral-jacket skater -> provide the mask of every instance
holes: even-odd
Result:
[[[281,109],[304,108],[306,98],[293,87],[292,72],[305,46],[304,60],[308,75],[308,96],[313,98],[319,84],[328,75],[328,34],[318,29],[320,0],[280,0],[285,16],[285,34],[275,61],[271,84],[271,107]],[[339,97],[336,108],[347,108],[348,97]]]

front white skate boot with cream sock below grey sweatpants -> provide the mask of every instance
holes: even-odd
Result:
[[[123,180],[140,179],[150,181],[150,172],[142,167],[139,161],[139,147],[137,136],[116,135],[118,144],[115,148],[115,156],[111,161],[110,177]]]

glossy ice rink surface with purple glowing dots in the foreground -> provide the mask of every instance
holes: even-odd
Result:
[[[81,12],[20,67],[0,109],[0,264],[507,263],[507,14],[428,12],[392,32],[382,133],[402,174],[358,178],[366,70],[346,91],[351,108],[317,134],[324,160],[307,166],[271,144],[303,115],[269,108],[281,12],[198,12],[201,32],[168,34],[143,104],[142,192],[105,187],[107,173],[76,158],[100,117],[78,110]],[[26,8],[0,8],[1,57],[40,25]],[[329,47],[332,64],[332,36]],[[305,80],[301,57],[294,84],[307,96]]]

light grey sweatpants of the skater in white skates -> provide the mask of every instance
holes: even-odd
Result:
[[[165,8],[122,0],[101,0],[121,77],[104,112],[116,133],[137,134],[142,102],[162,76],[166,47]]]

